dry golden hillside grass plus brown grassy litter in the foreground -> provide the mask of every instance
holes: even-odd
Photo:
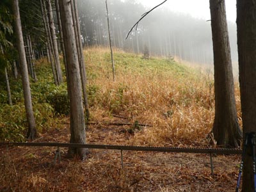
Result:
[[[115,50],[116,82],[110,54],[104,48],[84,51],[93,122],[86,131],[88,143],[206,147],[214,118],[213,79],[209,70],[178,64],[168,58],[142,56]],[[42,64],[43,65],[43,64]],[[236,100],[239,120],[239,89]],[[124,118],[116,118],[122,116]],[[102,122],[152,124],[129,134],[125,125]],[[42,133],[36,141],[69,141],[68,118],[61,126]],[[59,127],[60,126],[60,127]],[[56,129],[58,128],[58,129]],[[238,156],[209,156],[91,150],[86,161],[66,159],[53,164],[54,148],[0,148],[0,191],[234,191]],[[3,174],[4,173],[4,174]]]

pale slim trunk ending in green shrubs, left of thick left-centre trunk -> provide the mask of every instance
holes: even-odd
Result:
[[[50,32],[51,32],[51,38],[52,38],[52,44],[53,44],[53,52],[56,60],[57,78],[58,78],[58,83],[61,84],[63,82],[63,77],[62,77],[61,66],[60,66],[60,58],[59,58],[59,52],[58,52],[58,44],[57,44],[54,20],[52,16],[51,0],[47,0],[47,10],[48,10],[49,26],[50,26]]]

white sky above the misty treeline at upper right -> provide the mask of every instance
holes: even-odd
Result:
[[[153,8],[163,0],[136,0],[148,8]],[[161,5],[162,7],[168,7],[173,12],[186,13],[193,17],[209,20],[210,9],[209,0],[168,0],[166,3]],[[160,7],[159,7],[160,8]],[[226,0],[226,12],[227,20],[236,22],[236,0]]]

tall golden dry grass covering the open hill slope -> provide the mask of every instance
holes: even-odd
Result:
[[[84,51],[93,120],[123,115],[153,124],[134,135],[133,145],[208,145],[214,120],[214,82],[209,68],[188,67],[168,58],[143,59],[115,51],[116,82],[110,53]],[[240,115],[239,91],[236,85]]]

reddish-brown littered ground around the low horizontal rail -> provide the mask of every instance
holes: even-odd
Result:
[[[129,126],[90,125],[87,143],[130,145]],[[68,142],[68,123],[35,142]],[[183,146],[184,147],[184,146]],[[185,146],[186,147],[186,146]],[[197,146],[200,147],[200,146]],[[56,147],[1,147],[0,191],[235,191],[240,156],[90,150],[84,161],[65,157],[54,164]]]

